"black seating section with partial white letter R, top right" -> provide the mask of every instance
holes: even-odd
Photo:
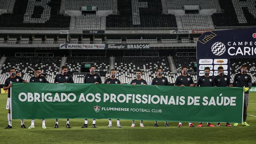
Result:
[[[222,13],[212,14],[215,28],[230,26],[255,26],[254,0],[219,0]]]

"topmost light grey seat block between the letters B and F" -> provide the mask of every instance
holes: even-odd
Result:
[[[66,0],[66,10],[80,10],[81,6],[97,6],[97,10],[112,10],[112,0]]]

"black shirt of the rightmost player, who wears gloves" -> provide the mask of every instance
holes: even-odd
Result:
[[[248,83],[252,83],[252,78],[249,74],[239,73],[235,75],[233,85],[236,84],[237,87],[249,87]],[[248,94],[249,90],[244,93]]]

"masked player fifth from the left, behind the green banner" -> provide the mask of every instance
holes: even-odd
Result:
[[[118,80],[116,78],[116,71],[115,70],[110,70],[110,78],[107,78],[104,82],[104,84],[123,84],[120,82],[120,80]],[[112,119],[108,119],[108,128],[112,127]],[[118,128],[122,128],[122,126],[120,125],[120,119],[116,120],[116,126]]]

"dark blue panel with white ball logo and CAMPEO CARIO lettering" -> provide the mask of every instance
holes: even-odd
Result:
[[[203,33],[196,42],[197,58],[255,58],[256,28]]]

